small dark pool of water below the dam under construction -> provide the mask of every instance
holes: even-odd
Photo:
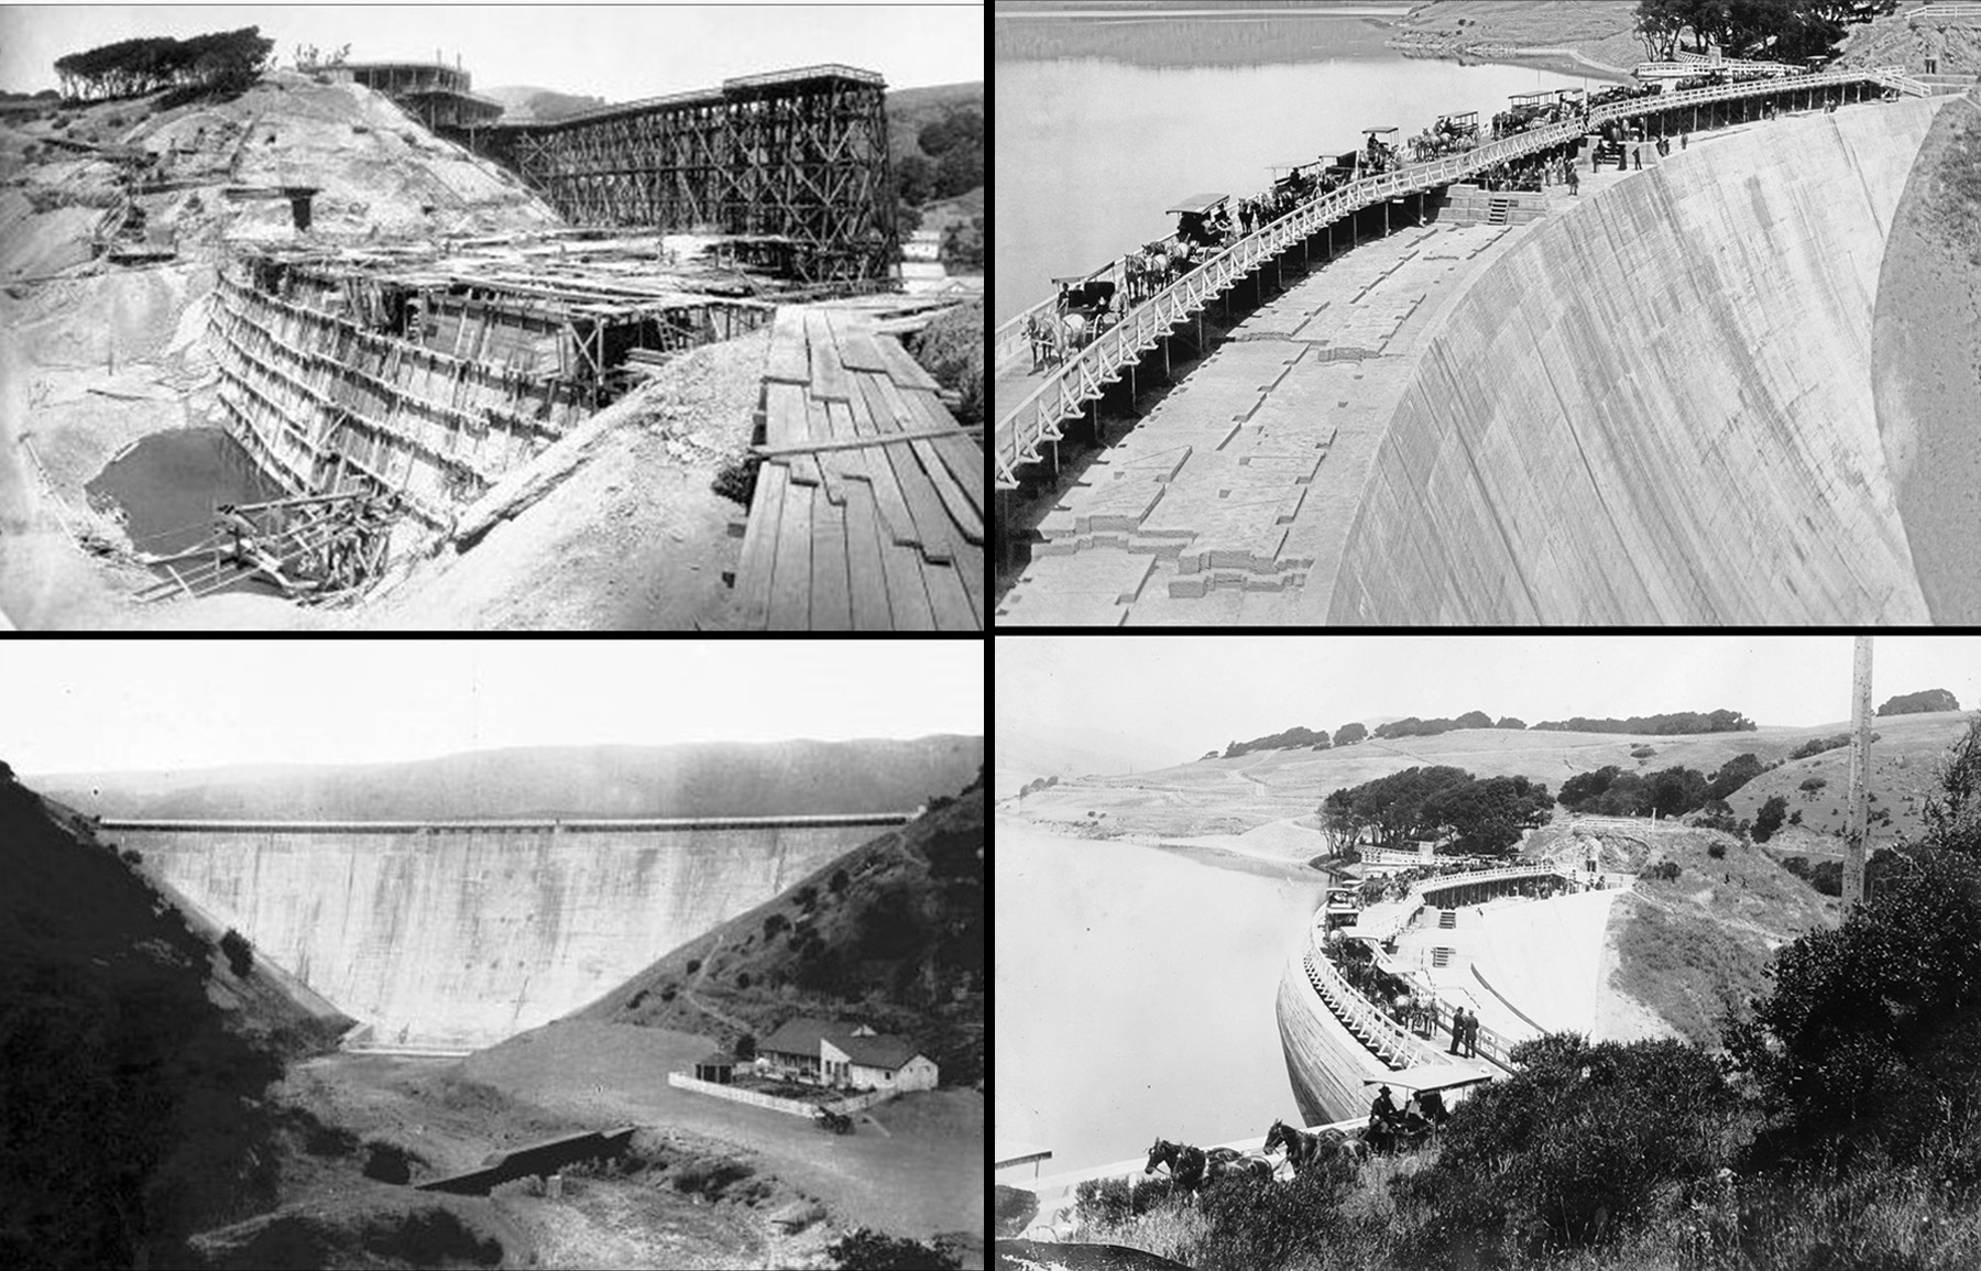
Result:
[[[176,428],[143,438],[83,489],[93,507],[123,509],[133,546],[158,556],[204,540],[220,503],[258,503],[285,493],[220,428]],[[254,590],[275,594],[271,584]]]

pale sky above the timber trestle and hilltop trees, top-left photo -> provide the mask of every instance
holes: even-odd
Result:
[[[535,85],[632,101],[731,75],[844,61],[889,87],[985,77],[981,4],[848,6],[0,6],[0,89],[55,87],[53,61],[133,36],[260,26],[281,65],[299,44],[353,61],[460,55],[477,89]]]

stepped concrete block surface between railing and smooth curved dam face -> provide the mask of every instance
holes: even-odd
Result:
[[[1347,537],[1412,354],[1525,230],[1408,228],[1266,301],[1040,523],[1006,626],[1296,622]]]

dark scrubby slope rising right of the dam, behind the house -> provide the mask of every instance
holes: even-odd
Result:
[[[576,1014],[735,1043],[792,1016],[864,1020],[917,1041],[943,1085],[983,1077],[985,794],[977,784]]]

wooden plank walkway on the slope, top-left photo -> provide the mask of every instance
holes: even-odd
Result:
[[[870,317],[779,309],[743,626],[983,630],[985,455],[935,388]]]

